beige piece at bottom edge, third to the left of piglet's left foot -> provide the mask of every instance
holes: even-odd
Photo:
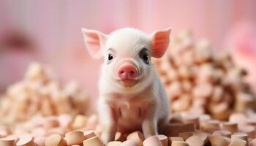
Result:
[[[66,140],[59,134],[52,134],[45,139],[45,146],[67,146]]]

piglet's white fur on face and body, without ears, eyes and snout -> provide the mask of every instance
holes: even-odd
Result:
[[[152,42],[148,35],[133,28],[123,28],[108,36],[102,55],[105,62],[99,79],[99,123],[102,141],[114,140],[116,131],[142,130],[145,137],[162,132],[169,120],[169,101],[165,88],[157,77],[153,64],[146,65],[139,58],[142,48],[151,57]],[[108,64],[108,49],[114,50]],[[116,69],[124,60],[138,67],[138,83],[126,87],[118,83]]]

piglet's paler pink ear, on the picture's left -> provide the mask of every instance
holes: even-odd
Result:
[[[105,46],[107,36],[100,31],[89,30],[86,28],[82,28],[82,33],[86,48],[89,50],[91,57],[101,58],[102,49]]]

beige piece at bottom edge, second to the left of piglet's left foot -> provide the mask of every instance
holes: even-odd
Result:
[[[70,131],[65,134],[67,145],[80,145],[83,143],[84,136],[82,131]]]

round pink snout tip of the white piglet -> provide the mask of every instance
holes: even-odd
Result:
[[[135,80],[138,77],[138,69],[134,64],[124,62],[118,67],[117,74],[121,80]]]

